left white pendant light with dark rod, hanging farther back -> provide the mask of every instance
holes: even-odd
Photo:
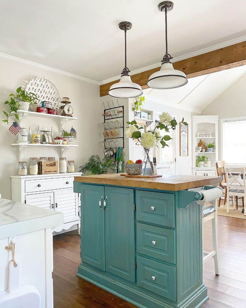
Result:
[[[118,98],[132,98],[143,94],[142,88],[139,84],[133,83],[129,76],[129,68],[126,66],[126,31],[130,30],[132,24],[127,21],[119,23],[119,28],[125,31],[125,67],[121,73],[119,82],[114,83],[110,88],[108,94]]]

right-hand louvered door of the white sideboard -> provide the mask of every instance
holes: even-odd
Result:
[[[78,220],[78,194],[72,189],[54,192],[55,211],[64,213],[64,223]]]

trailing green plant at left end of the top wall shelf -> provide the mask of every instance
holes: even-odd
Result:
[[[18,107],[20,105],[19,102],[28,102],[30,104],[36,104],[36,99],[37,95],[34,94],[33,92],[25,92],[25,90],[22,90],[21,87],[18,87],[16,89],[16,93],[13,94],[11,93],[9,95],[10,101],[6,100],[4,103],[5,105],[9,105],[10,107],[10,112],[8,113],[7,111],[2,111],[4,115],[6,116],[6,119],[2,120],[3,122],[9,124],[9,117],[10,115],[14,115],[16,120],[19,120],[19,116],[17,114]]]

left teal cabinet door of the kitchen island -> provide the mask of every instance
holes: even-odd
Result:
[[[101,270],[105,270],[103,198],[103,186],[81,185],[81,260]]]

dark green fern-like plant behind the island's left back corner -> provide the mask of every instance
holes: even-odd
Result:
[[[115,169],[115,163],[113,162],[113,158],[107,155],[102,159],[98,155],[92,155],[89,160],[79,167],[80,172],[89,172],[88,174],[105,174],[109,170]]]

